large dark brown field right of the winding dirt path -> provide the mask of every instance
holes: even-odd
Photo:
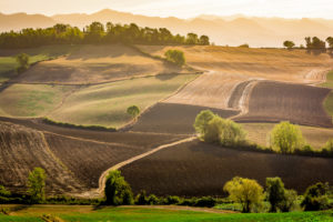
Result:
[[[120,169],[134,193],[158,195],[223,195],[233,176],[258,180],[281,176],[287,189],[303,192],[322,181],[333,182],[332,159],[292,157],[224,149],[193,141],[168,148]]]

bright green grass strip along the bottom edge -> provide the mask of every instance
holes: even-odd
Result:
[[[6,205],[7,208],[11,208]],[[16,206],[9,215],[1,215],[0,221],[43,221],[43,214],[57,218],[59,221],[90,222],[331,222],[333,211],[325,212],[292,212],[292,213],[208,213],[179,209],[148,209],[148,208],[102,208],[79,205],[31,205]],[[51,218],[50,216],[50,218]]]

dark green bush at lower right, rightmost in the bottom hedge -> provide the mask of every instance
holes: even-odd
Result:
[[[316,183],[306,189],[301,206],[304,211],[320,211],[329,206],[327,185]]]

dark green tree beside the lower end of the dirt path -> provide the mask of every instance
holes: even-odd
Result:
[[[104,193],[108,204],[122,205],[133,203],[131,186],[118,170],[111,171],[107,176]]]

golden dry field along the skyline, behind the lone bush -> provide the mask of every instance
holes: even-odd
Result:
[[[324,70],[332,69],[333,59],[325,53],[314,56],[305,50],[246,49],[232,47],[163,47],[140,46],[143,51],[163,56],[169,49],[185,53],[188,64],[229,74],[250,78],[315,83],[322,80]]]

